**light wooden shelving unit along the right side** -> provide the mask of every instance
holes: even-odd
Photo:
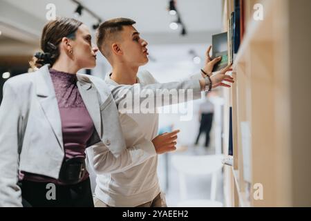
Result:
[[[227,31],[234,0],[223,3]],[[263,21],[253,19],[256,3],[263,6]],[[229,106],[234,144],[234,166],[224,173],[226,206],[311,206],[310,8],[309,0],[245,1],[236,83],[223,90],[224,153]],[[263,200],[254,198],[256,184],[263,186]]]

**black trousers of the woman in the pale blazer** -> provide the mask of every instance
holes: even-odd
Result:
[[[66,186],[23,180],[21,196],[25,207],[94,207],[90,178]]]

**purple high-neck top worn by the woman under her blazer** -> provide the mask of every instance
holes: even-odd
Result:
[[[62,121],[65,159],[72,157],[85,158],[86,143],[93,134],[94,124],[77,88],[77,76],[50,69],[50,77],[55,88],[55,95]],[[22,172],[20,178],[34,182],[62,184],[59,180],[26,172]],[[84,175],[83,180],[87,178],[88,173]]]

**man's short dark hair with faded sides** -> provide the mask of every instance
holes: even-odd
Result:
[[[102,55],[108,59],[111,55],[111,41],[114,41],[120,37],[120,32],[123,30],[123,26],[132,26],[136,21],[126,18],[117,18],[104,21],[97,28],[96,41],[97,47],[102,52]]]

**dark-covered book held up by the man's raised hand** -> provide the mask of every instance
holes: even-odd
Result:
[[[213,52],[211,57],[214,59],[221,56],[221,60],[214,66],[213,72],[225,68],[228,64],[228,38],[227,32],[213,35],[211,38]]]

